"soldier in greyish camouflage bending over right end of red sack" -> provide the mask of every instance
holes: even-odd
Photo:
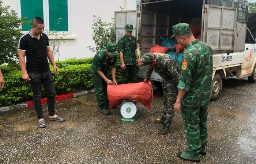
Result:
[[[140,61],[143,63],[143,67],[148,66],[144,82],[149,82],[154,69],[163,79],[163,116],[161,119],[155,120],[155,123],[163,124],[163,128],[159,130],[158,134],[166,134],[170,131],[170,124],[174,117],[173,106],[176,101],[177,86],[180,81],[179,65],[175,59],[167,54],[145,53],[140,57]]]

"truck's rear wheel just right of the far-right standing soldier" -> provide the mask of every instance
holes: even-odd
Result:
[[[215,101],[221,95],[222,90],[222,78],[221,75],[216,73],[211,82],[211,101]]]

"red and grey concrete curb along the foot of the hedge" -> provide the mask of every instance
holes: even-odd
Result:
[[[55,101],[61,101],[64,99],[75,98],[75,97],[79,97],[79,96],[87,95],[87,94],[91,94],[91,93],[95,93],[95,89],[83,90],[83,91],[79,91],[76,93],[60,94],[55,98]],[[46,104],[47,98],[42,98],[41,103]],[[32,107],[32,106],[33,106],[33,101],[27,101],[27,102],[19,103],[15,106],[0,107],[0,112],[5,112],[5,111],[15,110],[15,109],[22,109],[22,108]]]

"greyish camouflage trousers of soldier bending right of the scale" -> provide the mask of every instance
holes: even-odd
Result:
[[[163,118],[166,118],[165,124],[170,126],[174,117],[174,104],[177,98],[177,86],[173,79],[163,79]]]

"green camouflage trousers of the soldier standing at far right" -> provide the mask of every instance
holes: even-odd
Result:
[[[200,107],[181,105],[183,129],[187,137],[188,151],[198,153],[201,146],[208,145],[207,115],[208,104]]]

